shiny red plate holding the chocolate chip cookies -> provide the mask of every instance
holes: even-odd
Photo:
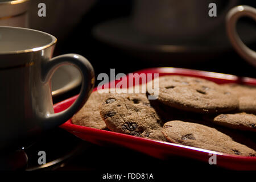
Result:
[[[152,68],[144,69],[136,73],[159,73],[159,76],[183,75],[201,77],[217,82],[218,84],[233,82],[239,84],[256,85],[256,79],[254,78],[237,77],[222,73],[204,72],[182,68]],[[129,80],[129,76],[123,77],[123,79]],[[117,82],[118,81],[115,81],[115,84],[117,84]],[[71,97],[65,101],[55,104],[55,113],[67,109],[76,100],[76,98],[77,96]],[[216,162],[218,166],[238,170],[256,170],[256,157],[222,154],[220,152],[203,150],[201,148],[188,147],[168,142],[158,142],[155,140],[134,137],[131,135],[114,133],[112,131],[98,130],[90,127],[73,125],[70,119],[60,127],[76,135],[77,137],[94,144],[99,144],[101,146],[115,145],[128,147],[159,159],[166,160],[170,156],[179,155],[208,163],[209,158],[212,156],[212,154],[214,154],[216,155]]]

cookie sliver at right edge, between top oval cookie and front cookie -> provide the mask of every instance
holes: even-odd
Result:
[[[256,115],[254,114],[220,114],[214,117],[212,122],[232,129],[256,131]]]

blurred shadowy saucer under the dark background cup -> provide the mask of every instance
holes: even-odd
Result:
[[[237,30],[246,44],[256,42],[255,27],[242,22],[238,23]],[[203,55],[204,59],[208,59],[208,56],[216,56],[218,53],[232,50],[224,26],[213,31],[210,35],[201,39],[200,42],[185,40],[172,42],[170,40],[156,40],[150,36],[140,34],[131,26],[129,18],[119,18],[98,24],[93,29],[93,35],[101,42],[123,49],[136,56],[143,56],[145,59],[199,60],[199,54]],[[191,56],[195,54],[197,57]],[[183,60],[184,55],[185,59]]]

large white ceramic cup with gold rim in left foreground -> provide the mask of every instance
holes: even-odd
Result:
[[[42,31],[0,26],[0,149],[61,125],[85,104],[92,92],[92,65],[76,54],[52,58],[56,41]],[[82,86],[73,105],[54,113],[51,77],[64,64],[80,70]]]

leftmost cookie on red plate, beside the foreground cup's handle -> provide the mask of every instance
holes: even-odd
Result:
[[[108,93],[93,92],[81,110],[71,118],[72,123],[95,129],[106,129],[106,124],[100,115],[99,106],[107,97]]]

